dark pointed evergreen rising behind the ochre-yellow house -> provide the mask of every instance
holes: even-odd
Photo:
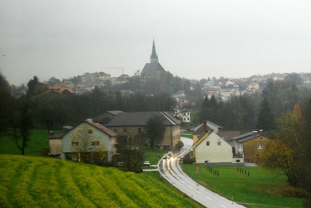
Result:
[[[257,118],[257,129],[270,131],[276,128],[275,118],[271,112],[269,102],[266,98],[261,103],[259,115]]]

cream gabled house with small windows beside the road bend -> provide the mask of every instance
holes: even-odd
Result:
[[[232,145],[217,132],[206,133],[195,144],[193,153],[196,163],[244,163],[242,157],[235,157]]]

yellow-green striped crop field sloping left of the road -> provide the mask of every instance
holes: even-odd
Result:
[[[151,176],[71,161],[0,155],[0,207],[191,208]]]

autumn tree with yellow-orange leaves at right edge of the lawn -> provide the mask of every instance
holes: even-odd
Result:
[[[282,114],[276,129],[276,141],[272,142],[260,158],[260,165],[269,168],[281,168],[287,176],[290,186],[301,187],[302,166],[299,161],[304,160],[301,145],[301,110],[296,105],[293,112]]]

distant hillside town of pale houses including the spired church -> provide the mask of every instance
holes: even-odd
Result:
[[[153,41],[152,53],[150,56],[150,63],[146,63],[142,70],[138,70],[134,76],[129,76],[123,74],[119,77],[111,77],[110,74],[105,72],[86,72],[83,75],[78,75],[77,77],[70,78],[68,80],[63,79],[58,80],[52,77],[48,81],[43,83],[47,87],[47,92],[62,93],[62,94],[72,94],[72,95],[83,95],[91,94],[93,90],[98,87],[102,91],[111,89],[113,87],[122,88],[130,82],[131,79],[135,79],[137,82],[146,82],[150,80],[161,81],[166,71],[158,61],[158,56],[155,51],[155,41]],[[216,79],[212,77],[211,79],[202,78],[201,80],[188,80],[181,79],[183,81],[188,80],[190,82],[190,91],[198,90],[202,93],[202,99],[211,98],[214,96],[217,100],[226,102],[232,96],[243,96],[243,95],[254,95],[260,92],[265,86],[267,81],[270,80],[284,80],[290,73],[272,73],[268,75],[253,75],[249,78],[239,78],[230,79],[220,77]],[[301,83],[310,83],[310,73],[300,73],[299,74]],[[27,87],[22,85],[20,87],[11,85],[11,94],[15,97],[25,95],[27,92]],[[132,92],[126,88],[119,89],[122,96],[134,95]],[[148,95],[152,96],[152,95]],[[178,90],[172,93],[172,97],[176,99],[177,106],[174,109],[172,115],[180,119],[183,123],[190,123],[190,111],[183,108],[184,104],[194,105],[194,102],[186,95],[185,90]]]

